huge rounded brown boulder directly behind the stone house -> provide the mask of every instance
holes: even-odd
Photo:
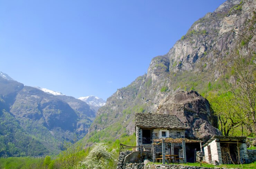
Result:
[[[222,135],[221,131],[215,128],[217,118],[210,111],[208,100],[196,91],[180,91],[168,96],[159,103],[157,113],[176,115],[189,127],[186,138],[206,141],[213,135]]]

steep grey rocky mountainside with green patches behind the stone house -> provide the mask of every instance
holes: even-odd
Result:
[[[219,133],[209,102],[202,102],[202,96],[211,90],[227,91],[235,82],[232,68],[239,55],[255,63],[255,6],[255,1],[227,0],[195,21],[165,55],[152,59],[146,74],[107,99],[83,142],[118,143],[116,139],[134,135],[136,112],[179,115],[189,127],[189,138],[206,140]],[[190,89],[202,96],[175,95]],[[183,101],[191,95],[190,101]],[[173,102],[177,96],[181,98]],[[203,134],[203,128],[208,133]]]

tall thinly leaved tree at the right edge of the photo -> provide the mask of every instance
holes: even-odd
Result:
[[[252,61],[255,58],[239,56],[234,63],[233,74],[236,79],[236,84],[231,92],[234,94],[235,103],[241,108],[243,114],[246,115],[244,124],[250,132],[250,135],[256,133],[255,119],[255,63]]]

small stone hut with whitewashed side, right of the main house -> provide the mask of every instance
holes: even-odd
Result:
[[[205,161],[219,164],[249,162],[246,137],[213,136],[203,146]]]

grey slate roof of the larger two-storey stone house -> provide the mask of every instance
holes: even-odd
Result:
[[[166,129],[186,129],[175,115],[135,113],[135,126]]]

